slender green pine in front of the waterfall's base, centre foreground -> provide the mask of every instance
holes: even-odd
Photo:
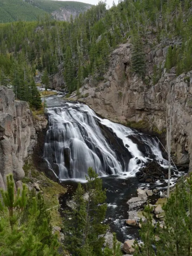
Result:
[[[103,224],[107,210],[106,191],[102,190],[102,180],[91,167],[86,179],[86,190],[78,184],[73,196],[71,219],[65,220],[64,229],[68,234],[65,244],[72,255],[100,256],[103,255],[104,234],[107,230],[107,225]]]

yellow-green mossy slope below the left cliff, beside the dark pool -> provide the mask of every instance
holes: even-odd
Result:
[[[22,182],[28,183],[38,181],[39,188],[43,191],[47,209],[51,208],[49,210],[52,217],[51,224],[53,226],[61,226],[62,218],[58,212],[59,207],[52,207],[59,205],[59,194],[64,194],[66,192],[66,188],[47,178],[43,172],[40,173],[37,171],[31,161],[26,163],[23,166],[23,169],[26,177],[23,178]]]

